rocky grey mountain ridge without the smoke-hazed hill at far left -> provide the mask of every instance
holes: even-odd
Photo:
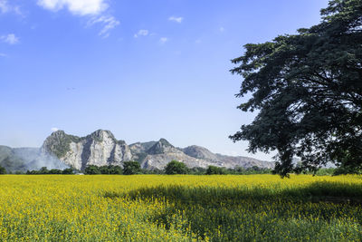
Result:
[[[195,145],[185,149],[176,148],[166,139],[128,145],[124,140],[115,139],[110,131],[102,130],[94,131],[86,137],[55,131],[44,141],[42,150],[76,169],[84,169],[87,165],[122,166],[127,160],[137,160],[145,169],[163,169],[171,160],[182,161],[190,168],[206,168],[209,165],[225,168],[274,166],[273,162],[214,154]]]

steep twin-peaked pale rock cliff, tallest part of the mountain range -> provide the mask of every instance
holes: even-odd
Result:
[[[55,131],[43,143],[42,151],[52,153],[75,169],[88,165],[122,165],[131,160],[129,146],[116,140],[110,131],[95,131],[86,137],[76,137]]]

